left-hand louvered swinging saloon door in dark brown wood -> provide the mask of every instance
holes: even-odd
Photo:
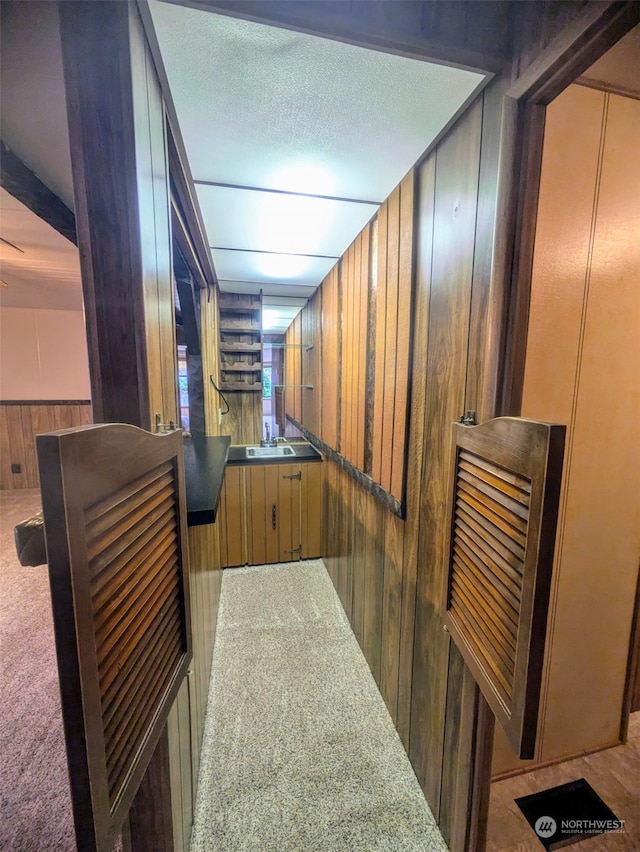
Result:
[[[191,658],[182,439],[39,436],[79,849],[111,850]]]

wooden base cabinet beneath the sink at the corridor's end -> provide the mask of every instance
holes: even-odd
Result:
[[[218,511],[222,564],[320,556],[321,501],[318,462],[228,467]]]

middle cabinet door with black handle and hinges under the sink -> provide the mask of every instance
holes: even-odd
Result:
[[[255,465],[247,474],[249,565],[300,558],[300,465]]]

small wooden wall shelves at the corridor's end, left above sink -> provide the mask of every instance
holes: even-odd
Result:
[[[220,389],[262,391],[262,296],[221,293]]]

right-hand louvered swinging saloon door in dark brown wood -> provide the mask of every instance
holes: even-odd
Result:
[[[521,758],[538,722],[565,427],[454,424],[445,626]]]

